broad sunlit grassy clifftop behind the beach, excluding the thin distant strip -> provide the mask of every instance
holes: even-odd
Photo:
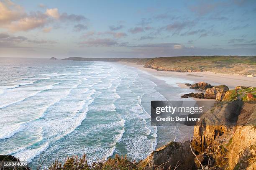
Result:
[[[151,58],[144,67],[162,71],[256,74],[256,57],[188,56]]]

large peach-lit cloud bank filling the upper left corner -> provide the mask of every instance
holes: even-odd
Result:
[[[11,32],[43,28],[53,21],[79,22],[87,20],[88,19],[82,15],[68,15],[67,13],[59,14],[57,8],[46,9],[45,13],[32,11],[27,14],[20,5],[16,5],[10,0],[0,2],[0,28],[8,29]]]

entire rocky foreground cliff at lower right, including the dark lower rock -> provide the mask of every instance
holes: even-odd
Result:
[[[217,93],[213,93],[217,101],[215,106],[203,114],[194,127],[191,146],[196,157],[192,155],[189,141],[171,142],[152,152],[140,163],[141,167],[154,164],[161,165],[163,169],[197,169],[203,166],[204,169],[255,170],[256,101],[248,101],[245,96],[255,94],[256,90],[241,86],[234,90],[226,88],[221,86],[220,99],[216,98]]]

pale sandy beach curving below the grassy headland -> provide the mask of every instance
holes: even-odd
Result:
[[[246,77],[240,75],[218,74],[212,72],[171,72],[171,71],[157,71],[155,69],[144,68],[143,65],[136,63],[120,62],[127,66],[136,67],[142,71],[147,71],[154,76],[172,76],[182,79],[194,81],[194,83],[205,81],[214,86],[226,85],[229,89],[235,89],[236,86],[256,86],[256,78]],[[184,83],[177,83],[181,88],[187,88]]]

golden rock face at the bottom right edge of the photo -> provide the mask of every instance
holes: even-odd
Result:
[[[228,154],[230,169],[253,170],[256,167],[256,103],[244,103]]]

